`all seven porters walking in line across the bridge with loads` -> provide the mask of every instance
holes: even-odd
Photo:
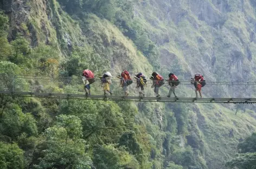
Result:
[[[111,73],[106,72],[102,76],[98,75],[98,77],[101,80],[101,87],[103,87],[104,95],[106,95],[107,93],[110,93],[110,95],[112,95],[112,92],[110,90],[111,78],[112,78]],[[136,88],[138,90],[139,96],[140,97],[145,96],[144,86],[147,83],[146,77],[142,73],[138,73],[134,77],[137,81]],[[118,78],[120,79],[120,87],[123,88],[124,95],[128,96],[129,92],[127,91],[127,86],[132,84],[132,79],[131,79],[129,72],[127,70],[124,70],[123,72],[121,72],[121,75],[119,75]],[[90,85],[93,82],[95,82],[93,72],[89,69],[85,69],[84,72],[82,73],[82,80],[84,82],[84,89],[85,89],[86,96],[91,95],[91,92],[90,92],[91,86]],[[153,72],[151,74],[150,80],[153,81],[151,88],[154,88],[156,97],[159,97],[160,96],[159,95],[159,87],[164,85],[163,76],[159,75],[157,72]],[[170,86],[169,94],[167,95],[167,97],[170,98],[171,94],[173,93],[175,98],[178,98],[175,93],[175,88],[177,88],[177,86],[180,84],[178,77],[175,74],[170,73],[169,78],[167,78],[165,80],[168,80],[168,84]],[[202,98],[201,88],[206,85],[206,81],[204,80],[203,75],[201,75],[200,73],[196,73],[194,78],[190,79],[190,82],[191,82],[191,84],[193,84],[195,86],[196,98],[197,98],[197,91],[199,92],[200,97]]]

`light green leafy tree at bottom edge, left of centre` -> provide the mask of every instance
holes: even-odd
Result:
[[[59,115],[55,126],[46,129],[46,149],[35,168],[91,168],[91,159],[85,153],[81,120],[74,115]],[[43,144],[44,144],[43,143]]]

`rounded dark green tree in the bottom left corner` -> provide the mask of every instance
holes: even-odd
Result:
[[[0,141],[0,166],[2,169],[24,168],[23,151],[17,144]]]

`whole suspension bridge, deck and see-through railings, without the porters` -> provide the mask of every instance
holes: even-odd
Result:
[[[175,89],[178,98],[167,97],[168,81],[160,87],[160,97],[153,92],[153,82],[148,80],[144,97],[137,92],[137,82],[127,87],[129,96],[124,96],[119,79],[112,79],[112,95],[104,95],[100,79],[91,85],[91,95],[86,96],[82,77],[49,77],[0,74],[0,96],[22,96],[57,99],[86,99],[149,102],[208,102],[208,103],[256,103],[256,82],[208,82],[202,88],[203,98],[195,98],[195,87],[190,81],[180,81]]]

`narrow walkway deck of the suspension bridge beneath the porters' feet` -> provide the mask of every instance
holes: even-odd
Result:
[[[115,101],[151,101],[151,102],[217,102],[217,103],[256,103],[256,98],[167,98],[167,97],[143,97],[138,96],[104,96],[84,94],[61,94],[61,93],[30,93],[30,92],[5,92],[0,95],[24,96],[37,98],[60,98],[60,99],[87,99],[87,100],[115,100]]]

